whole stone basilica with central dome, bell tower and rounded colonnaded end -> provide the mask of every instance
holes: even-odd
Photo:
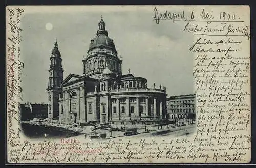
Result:
[[[101,18],[96,37],[82,58],[83,74],[63,79],[57,41],[50,57],[48,118],[63,123],[152,124],[166,119],[166,88],[122,74],[122,58]]]

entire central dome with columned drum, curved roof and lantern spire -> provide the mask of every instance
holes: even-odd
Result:
[[[83,56],[83,73],[100,79],[103,76],[122,76],[122,59],[118,58],[113,40],[108,37],[102,17],[96,37],[91,40],[87,56]]]

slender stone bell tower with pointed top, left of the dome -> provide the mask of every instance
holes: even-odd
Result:
[[[58,50],[57,39],[50,57],[49,82],[47,87],[48,94],[48,118],[59,117],[59,95],[62,92],[63,82],[62,59]]]

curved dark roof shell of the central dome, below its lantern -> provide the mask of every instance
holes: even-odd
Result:
[[[98,34],[94,39],[92,39],[89,50],[98,48],[100,46],[116,50],[113,40],[105,34]]]

